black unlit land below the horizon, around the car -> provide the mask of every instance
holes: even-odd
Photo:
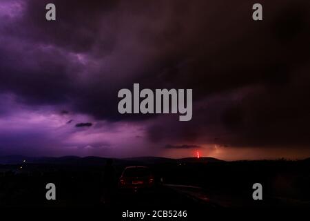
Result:
[[[105,159],[26,160],[1,165],[1,207],[94,207],[128,211],[211,211],[225,207],[309,207],[310,163],[303,161],[221,162],[214,159],[114,160],[115,177],[125,166],[147,165],[154,172],[151,190],[103,195]],[[252,185],[262,184],[263,200],[253,200]],[[56,200],[46,200],[45,185],[56,185]]]

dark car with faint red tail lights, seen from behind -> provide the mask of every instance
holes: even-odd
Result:
[[[154,175],[147,166],[127,166],[118,182],[120,189],[134,190],[152,189]]]

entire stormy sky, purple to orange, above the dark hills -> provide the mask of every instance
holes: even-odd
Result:
[[[0,155],[309,157],[310,2],[254,3],[1,0]],[[134,83],[192,120],[119,114]]]

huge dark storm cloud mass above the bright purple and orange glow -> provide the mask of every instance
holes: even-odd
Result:
[[[145,120],[174,145],[309,146],[309,1],[23,2],[0,23],[0,90],[108,122]],[[117,92],[193,88],[191,122],[119,115]],[[1,110],[0,110],[1,113]],[[78,125],[78,124],[76,124]]]

